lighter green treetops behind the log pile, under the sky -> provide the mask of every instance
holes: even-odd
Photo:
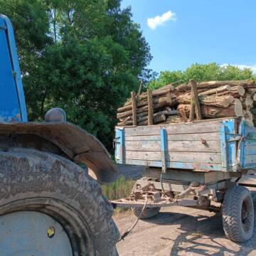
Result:
[[[148,87],[154,90],[164,85],[168,85],[171,82],[174,82],[174,85],[179,85],[183,82],[188,82],[190,79],[201,82],[210,80],[245,80],[255,78],[252,70],[248,68],[241,70],[233,65],[221,66],[217,63],[195,63],[185,71],[162,71],[158,78],[149,82]]]

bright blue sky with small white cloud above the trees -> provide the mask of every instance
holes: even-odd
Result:
[[[123,0],[126,6],[151,47],[154,71],[216,62],[256,73],[255,0]]]

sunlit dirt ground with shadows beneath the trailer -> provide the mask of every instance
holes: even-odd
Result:
[[[132,213],[114,216],[120,233],[132,226]],[[218,213],[193,208],[162,208],[150,220],[139,220],[125,240],[117,244],[121,256],[143,255],[256,255],[255,232],[251,240],[237,244],[225,238]]]

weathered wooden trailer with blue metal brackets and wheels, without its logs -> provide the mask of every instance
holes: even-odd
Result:
[[[220,211],[228,238],[251,238],[254,208],[245,186],[256,186],[255,127],[238,118],[116,127],[114,142],[117,163],[145,166],[131,196],[114,206],[132,207],[140,218],[174,205]]]

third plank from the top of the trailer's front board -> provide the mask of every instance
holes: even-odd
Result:
[[[168,150],[173,152],[220,152],[220,142],[207,141],[168,141]],[[128,141],[125,143],[127,151],[161,151],[161,142]]]

